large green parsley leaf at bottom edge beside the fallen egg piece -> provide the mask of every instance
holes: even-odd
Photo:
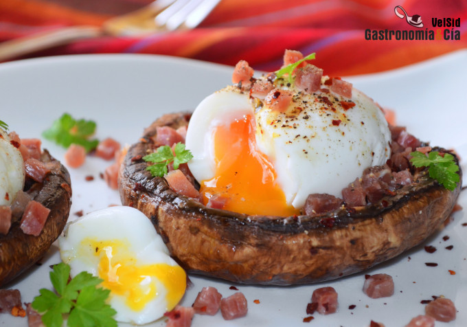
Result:
[[[69,313],[68,326],[75,327],[115,327],[113,319],[116,311],[106,304],[109,290],[96,286],[102,282],[91,273],[82,271],[69,280],[70,267],[61,262],[50,272],[50,280],[56,293],[41,289],[34,297],[32,307],[39,313],[44,313],[42,322],[47,327],[61,327],[63,314]]]

